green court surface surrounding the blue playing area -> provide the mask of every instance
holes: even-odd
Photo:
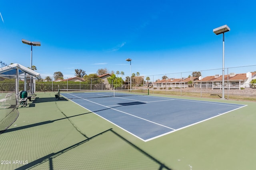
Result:
[[[0,134],[0,169],[256,169],[255,102],[209,100],[248,106],[144,142],[54,92],[36,94]]]

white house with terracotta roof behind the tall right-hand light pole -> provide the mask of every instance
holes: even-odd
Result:
[[[247,72],[242,74],[230,73],[224,75],[224,88],[226,89],[240,89],[250,88],[250,81],[256,79],[256,72]],[[212,88],[222,89],[222,75],[200,77],[199,80],[194,81],[195,88]]]

